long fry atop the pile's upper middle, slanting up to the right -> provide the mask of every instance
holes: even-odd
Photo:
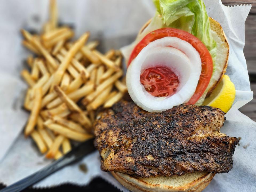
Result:
[[[69,66],[69,63],[71,59],[74,57],[74,55],[77,53],[77,51],[83,46],[83,44],[87,41],[89,38],[89,33],[83,34],[77,42],[70,48],[68,53],[65,55],[64,59],[62,60],[61,64],[59,65],[55,75],[54,75],[54,82],[52,89],[55,85],[59,85],[61,78],[63,74],[65,73],[65,70]]]

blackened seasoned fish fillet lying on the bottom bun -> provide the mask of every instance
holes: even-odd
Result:
[[[101,168],[138,177],[228,172],[239,139],[219,132],[224,115],[209,106],[148,113],[133,103],[118,103],[95,124]]]

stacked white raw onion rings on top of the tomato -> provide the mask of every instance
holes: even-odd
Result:
[[[190,43],[177,37],[164,37],[149,43],[128,67],[126,84],[133,101],[149,112],[160,112],[186,103],[192,97],[201,74],[201,58]],[[154,97],[140,82],[150,67],[169,67],[179,77],[179,86],[170,97]]]

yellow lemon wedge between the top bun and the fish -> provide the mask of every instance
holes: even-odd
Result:
[[[229,76],[223,75],[221,82],[205,99],[203,105],[217,107],[227,113],[235,100],[235,85]]]

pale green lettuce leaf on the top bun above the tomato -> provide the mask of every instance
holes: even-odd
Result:
[[[203,0],[153,0],[153,2],[157,9],[155,17],[161,15],[162,27],[182,29],[191,33],[205,44],[213,61],[215,60],[217,44],[211,35]]]

